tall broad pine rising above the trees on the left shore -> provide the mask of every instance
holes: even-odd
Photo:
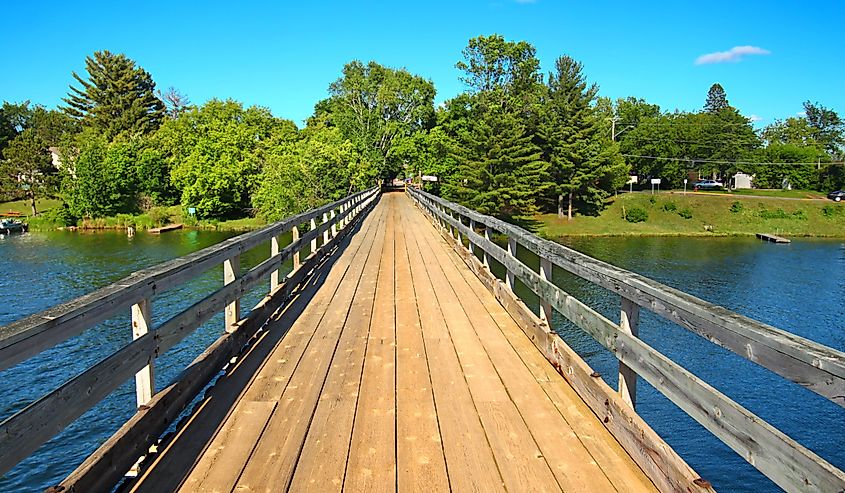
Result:
[[[86,57],[88,80],[73,72],[81,88],[70,86],[64,111],[111,139],[120,134],[155,131],[164,118],[164,104],[155,95],[155,82],[143,68],[123,54],[94,52]]]

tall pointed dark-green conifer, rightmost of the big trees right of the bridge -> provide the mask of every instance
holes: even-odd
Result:
[[[551,163],[558,216],[572,219],[576,201],[601,209],[609,193],[624,184],[628,167],[618,145],[604,135],[593,107],[598,88],[587,85],[581,64],[563,56],[555,68],[540,136]]]

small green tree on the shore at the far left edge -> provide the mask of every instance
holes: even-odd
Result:
[[[29,198],[32,215],[36,215],[35,199],[53,186],[56,174],[47,143],[34,129],[27,128],[6,146],[3,156],[6,160],[0,161],[0,179],[22,190]]]

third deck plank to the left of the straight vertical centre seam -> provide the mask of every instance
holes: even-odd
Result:
[[[383,228],[377,229],[376,245],[383,235]],[[358,275],[363,270],[362,264],[353,264]],[[236,488],[244,491],[288,488],[356,289],[355,282],[341,284],[332,302],[335,309],[329,310],[321,321],[301,360],[302,371],[300,367],[294,371]]]

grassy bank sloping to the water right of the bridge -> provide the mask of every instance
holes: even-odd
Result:
[[[641,212],[645,214],[642,214]],[[641,222],[631,219],[647,218]],[[845,238],[845,204],[727,194],[622,194],[597,217],[540,215],[538,232],[557,236],[706,236],[774,233]]]

